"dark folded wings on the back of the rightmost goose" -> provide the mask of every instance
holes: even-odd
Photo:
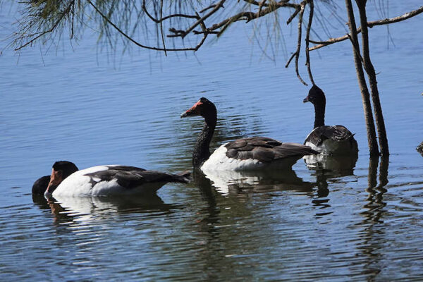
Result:
[[[326,139],[341,142],[353,136],[353,133],[351,133],[350,130],[345,128],[343,125],[323,125],[318,128],[314,128],[314,130],[305,139],[304,144],[306,142],[311,142],[312,144],[319,146]]]

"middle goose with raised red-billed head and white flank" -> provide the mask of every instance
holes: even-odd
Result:
[[[209,145],[217,121],[216,106],[202,97],[180,115],[181,118],[187,116],[202,116],[205,121],[192,152],[193,166],[202,171],[250,170],[271,165],[290,168],[303,156],[318,153],[297,143],[283,143],[268,137],[250,137],[223,144],[210,154]]]

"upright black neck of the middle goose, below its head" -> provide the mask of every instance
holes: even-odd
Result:
[[[200,167],[210,157],[210,141],[212,141],[214,128],[216,128],[216,115],[205,118],[204,127],[201,130],[195,145],[194,152],[192,152],[192,165]]]

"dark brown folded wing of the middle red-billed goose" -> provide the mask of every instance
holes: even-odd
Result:
[[[317,154],[308,146],[296,143],[282,143],[268,137],[238,139],[225,145],[226,157],[232,159],[257,159],[269,163],[277,159],[306,154]]]

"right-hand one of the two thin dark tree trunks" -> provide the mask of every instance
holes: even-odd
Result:
[[[360,11],[361,35],[362,35],[362,58],[364,70],[369,78],[370,90],[372,92],[372,102],[374,117],[376,119],[377,135],[379,136],[379,146],[382,155],[389,154],[388,138],[386,137],[384,114],[382,113],[379,90],[377,88],[376,73],[369,52],[369,30],[367,27],[366,3],[367,0],[355,0]]]

